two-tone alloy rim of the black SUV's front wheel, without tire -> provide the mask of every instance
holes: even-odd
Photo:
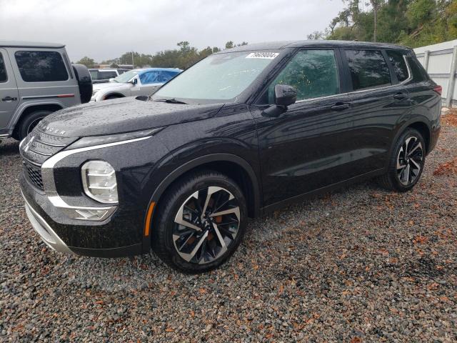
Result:
[[[240,208],[231,192],[214,186],[201,189],[176,214],[174,247],[186,262],[213,262],[233,244],[239,224]]]

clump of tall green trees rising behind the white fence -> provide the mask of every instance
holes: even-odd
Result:
[[[416,47],[457,38],[457,0],[369,0],[365,11],[359,0],[342,1],[346,6],[330,22],[327,39]]]

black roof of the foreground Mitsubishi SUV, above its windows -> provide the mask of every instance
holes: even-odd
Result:
[[[373,43],[369,41],[271,41],[267,43],[256,43],[236,46],[232,49],[220,51],[218,54],[232,51],[251,51],[285,48],[304,48],[304,47],[344,47],[344,48],[378,48],[378,49],[410,49],[407,46],[387,43]]]

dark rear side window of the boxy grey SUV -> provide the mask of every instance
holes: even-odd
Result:
[[[26,82],[65,81],[69,79],[64,60],[56,51],[17,51],[16,62]]]

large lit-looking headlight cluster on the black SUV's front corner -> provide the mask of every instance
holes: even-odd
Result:
[[[84,193],[104,204],[117,204],[117,182],[114,168],[106,161],[88,161],[81,167]]]

